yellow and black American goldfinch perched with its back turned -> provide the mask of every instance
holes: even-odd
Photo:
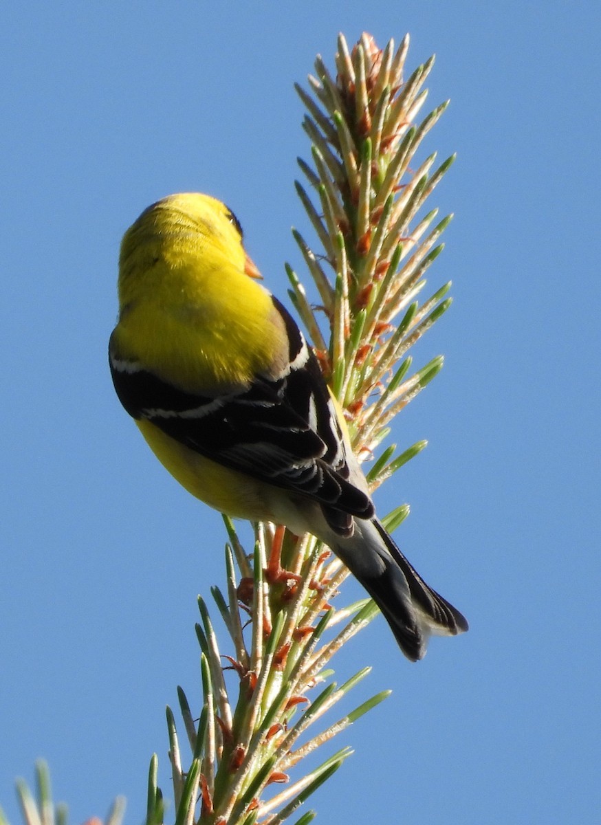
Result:
[[[121,243],[116,393],[192,495],[328,544],[415,661],[430,634],[467,622],[376,519],[315,355],[257,278],[219,200],[173,195],[144,210]]]

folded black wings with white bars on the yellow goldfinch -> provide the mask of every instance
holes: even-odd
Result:
[[[219,464],[319,502],[330,526],[352,530],[351,516],[373,515],[371,499],[349,480],[343,432],[302,333],[282,304],[289,365],[277,378],[255,376],[223,395],[190,394],[122,361],[111,351],[116,392],[128,413]]]

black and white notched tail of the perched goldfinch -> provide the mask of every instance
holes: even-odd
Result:
[[[431,634],[455,636],[468,629],[465,617],[428,587],[377,519],[356,519],[353,537],[339,540],[335,549],[412,662],[424,658]]]

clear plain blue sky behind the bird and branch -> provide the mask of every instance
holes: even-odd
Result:
[[[450,313],[416,357],[442,375],[396,423],[428,438],[378,496],[471,631],[410,665],[383,620],[338,676],[392,697],[320,822],[592,821],[599,790],[599,13],[562,2],[23,2],[2,12],[0,804],[50,762],[71,821],[170,795],[164,706],[199,696],[196,594],[223,581],[220,518],[168,477],[106,365],[121,234],[173,191],[226,200],[274,292],[303,225],[292,89],[338,31],[436,52],[427,149],[458,160],[432,285]],[[291,4],[290,4],[291,6]],[[354,586],[348,596],[359,596]]]

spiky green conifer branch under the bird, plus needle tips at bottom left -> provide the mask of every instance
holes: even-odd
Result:
[[[390,40],[379,50],[364,34],[349,50],[339,35],[336,76],[318,57],[308,88],[296,86],[306,109],[303,128],[312,158],[311,163],[299,160],[305,184],[296,181],[296,191],[315,243],[296,230],[293,236],[319,306],[310,304],[299,276],[286,265],[289,295],[343,408],[360,460],[374,457],[392,418],[441,369],[438,356],[412,372],[409,350],[450,304],[450,284],[423,297],[424,274],[442,251],[439,239],[451,219],[434,224],[437,210],[426,213],[424,206],[453,158],[438,168],[434,154],[416,160],[447,103],[417,120],[433,59],[405,80],[408,48],[409,36],[398,49]],[[371,490],[424,446],[425,441],[400,451],[387,446],[367,474]],[[408,513],[407,505],[397,507],[383,520],[387,529]],[[362,667],[338,687],[329,664],[377,609],[370,599],[338,603],[348,571],[313,536],[257,524],[253,548],[245,548],[227,518],[225,527],[226,586],[211,593],[227,634],[219,639],[211,610],[199,599],[201,707],[191,709],[182,688],[177,689],[188,757],[175,715],[167,710],[175,821],[277,825],[351,751],[344,747],[303,775],[305,757],[388,695],[372,696],[334,723],[321,722],[369,672]],[[65,809],[52,804],[45,764],[39,763],[37,771],[37,802],[25,783],[17,785],[26,825],[66,825]],[[154,756],[146,825],[163,823],[157,771]],[[122,812],[123,802],[117,800],[106,825],[121,825]],[[313,817],[309,811],[297,825]],[[7,825],[2,812],[0,825]]]

